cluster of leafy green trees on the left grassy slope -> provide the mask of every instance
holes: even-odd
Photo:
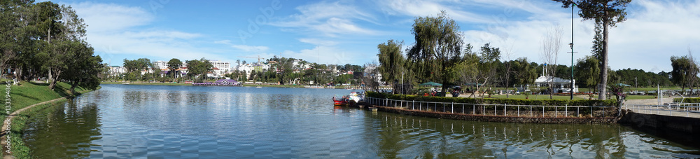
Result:
[[[87,25],[71,6],[0,1],[0,22],[1,74],[20,81],[47,77],[52,90],[58,81],[70,83],[71,92],[99,86],[106,67],[87,43]]]

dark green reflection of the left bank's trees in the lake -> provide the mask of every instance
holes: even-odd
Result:
[[[99,151],[92,141],[102,139],[98,112],[80,99],[50,106],[29,119],[23,138],[36,158],[87,158]]]

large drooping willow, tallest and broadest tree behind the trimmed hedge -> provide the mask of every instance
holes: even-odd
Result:
[[[454,83],[457,71],[453,67],[461,60],[464,43],[457,23],[442,11],[437,17],[416,18],[412,33],[416,43],[407,55],[416,76],[423,82],[438,81],[444,86]],[[447,92],[447,87],[442,87],[442,92]]]

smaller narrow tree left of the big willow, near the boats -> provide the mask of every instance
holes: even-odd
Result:
[[[377,46],[379,53],[379,73],[381,76],[381,81],[386,83],[391,83],[395,85],[401,78],[403,73],[403,63],[406,61],[401,53],[401,43],[392,40],[386,41],[386,43],[380,43]],[[392,93],[397,93],[396,87],[392,87],[394,90]]]

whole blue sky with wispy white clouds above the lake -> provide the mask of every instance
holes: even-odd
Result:
[[[570,64],[570,9],[544,0],[435,1],[55,1],[87,23],[87,41],[104,62],[123,59],[257,61],[294,57],[323,64],[377,61],[388,39],[414,43],[418,16],[441,10],[458,22],[465,43],[501,48],[501,60],[541,62],[541,39],[561,28],[557,63]],[[628,20],[610,30],[610,67],[671,71],[670,57],[700,53],[699,1],[636,0]],[[262,11],[261,11],[262,10]],[[251,25],[251,22],[253,25]],[[594,25],[575,16],[575,51],[590,55]],[[700,55],[695,55],[699,57]]]

